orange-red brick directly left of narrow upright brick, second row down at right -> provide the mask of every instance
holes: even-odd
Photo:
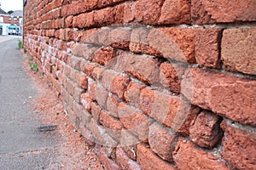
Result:
[[[148,33],[148,42],[166,59],[195,63],[195,33],[184,28],[153,29]]]

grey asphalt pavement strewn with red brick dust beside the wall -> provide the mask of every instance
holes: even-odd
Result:
[[[38,131],[40,117],[29,106],[33,86],[17,37],[0,37],[0,170],[47,169],[54,162],[58,136]]]

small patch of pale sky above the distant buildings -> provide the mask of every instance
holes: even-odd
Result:
[[[9,10],[22,10],[23,0],[0,0],[1,8],[8,12]]]

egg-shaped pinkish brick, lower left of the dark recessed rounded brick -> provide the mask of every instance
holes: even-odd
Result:
[[[149,127],[148,143],[151,150],[166,161],[172,161],[177,136],[166,127],[154,123]]]

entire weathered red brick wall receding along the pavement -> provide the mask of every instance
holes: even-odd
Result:
[[[107,169],[255,169],[255,8],[31,0],[24,46]]]

